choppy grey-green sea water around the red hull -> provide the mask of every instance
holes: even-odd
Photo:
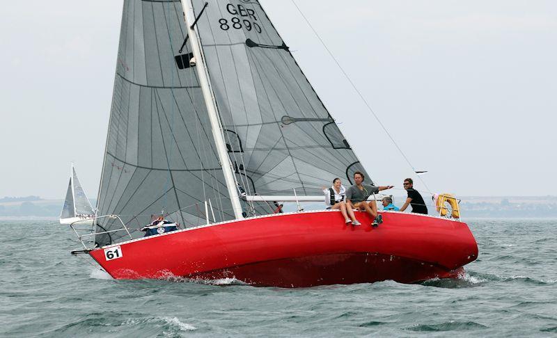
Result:
[[[468,223],[480,254],[462,279],[279,289],[112,280],[70,255],[67,226],[3,220],[0,336],[556,336],[557,220]]]

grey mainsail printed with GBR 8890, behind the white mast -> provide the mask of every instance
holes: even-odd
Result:
[[[198,15],[205,0],[193,4]],[[197,29],[246,193],[315,195],[335,177],[350,184],[354,171],[365,173],[258,1],[210,1]],[[273,210],[260,204],[251,211]]]

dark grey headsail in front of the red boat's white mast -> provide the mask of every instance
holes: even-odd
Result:
[[[155,215],[204,224],[207,200],[217,222],[235,218],[191,52],[180,1],[124,1],[97,215],[119,215],[134,238]],[[97,232],[119,228],[97,220]]]

